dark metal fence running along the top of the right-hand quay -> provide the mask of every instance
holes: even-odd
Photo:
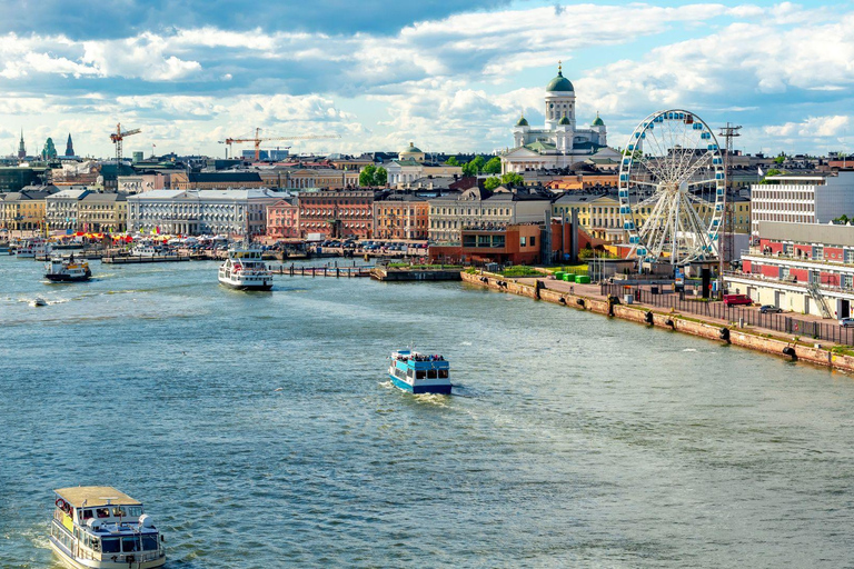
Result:
[[[759,312],[757,309],[747,309],[736,306],[727,306],[723,302],[706,300],[686,300],[675,292],[662,292],[654,295],[652,290],[623,284],[602,286],[603,296],[615,296],[623,299],[625,295],[634,296],[634,301],[655,308],[668,308],[677,312],[706,316],[727,322],[744,322],[748,326],[765,328],[785,332],[801,338],[812,338],[844,346],[854,346],[854,328],[845,328],[836,322],[826,323],[815,320],[803,320],[784,313]]]

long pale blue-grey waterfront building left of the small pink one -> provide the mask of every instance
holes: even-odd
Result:
[[[128,196],[128,231],[169,234],[264,234],[267,206],[286,192],[239,190],[152,190]]]

